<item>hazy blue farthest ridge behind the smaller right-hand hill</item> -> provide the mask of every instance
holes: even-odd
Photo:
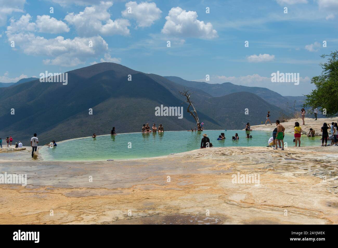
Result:
[[[195,82],[195,81],[187,81],[179,77],[174,76],[166,76],[165,78],[184,85],[186,87],[195,87],[201,89],[213,97],[221,97],[223,95],[235,93],[235,92],[251,92],[259,97],[263,98],[265,101],[271,103],[272,105],[278,106],[282,108],[285,112],[291,114],[293,112],[293,103],[296,100],[296,108],[298,109],[304,103],[304,96],[301,97],[283,97],[281,94],[262,87],[249,87],[232,84],[230,82],[222,83],[222,84],[209,84],[206,82]],[[287,104],[290,106],[287,108]],[[292,107],[292,109],[291,109]],[[300,110],[300,109],[299,109]]]

